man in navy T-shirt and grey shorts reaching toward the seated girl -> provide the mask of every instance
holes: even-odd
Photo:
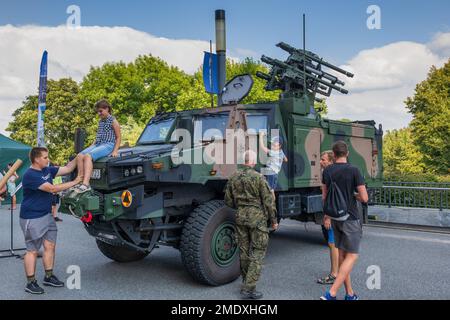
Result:
[[[56,176],[66,175],[76,168],[73,160],[65,167],[49,167],[48,150],[36,147],[30,151],[31,167],[25,172],[22,180],[23,200],[20,207],[20,226],[22,228],[27,253],[24,256],[27,286],[25,291],[42,294],[44,290],[35,278],[36,260],[39,249],[44,246],[42,257],[45,269],[43,284],[52,287],[63,287],[53,274],[57,228],[52,212],[54,193],[69,189],[81,182],[81,177],[74,181],[54,186]]]

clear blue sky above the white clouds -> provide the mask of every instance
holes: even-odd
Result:
[[[362,49],[396,41],[427,42],[450,31],[448,0],[198,0],[198,1],[2,1],[0,25],[64,24],[66,8],[81,8],[83,26],[128,26],[159,37],[214,41],[214,10],[227,13],[229,48],[281,55],[280,40],[301,46],[301,14],[307,14],[307,47],[344,63]],[[366,9],[381,8],[381,30],[368,30]]]

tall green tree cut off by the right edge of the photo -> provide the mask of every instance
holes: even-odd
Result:
[[[405,103],[413,115],[413,143],[422,152],[427,171],[450,173],[450,59],[440,69],[433,66]]]

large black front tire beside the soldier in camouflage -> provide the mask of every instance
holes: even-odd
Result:
[[[221,200],[200,205],[186,220],[180,242],[181,260],[195,280],[218,286],[239,277],[239,249],[234,237],[231,237],[230,261],[227,265],[220,265],[215,261],[211,248],[215,232],[221,230],[220,227],[224,225],[232,225],[234,228],[235,223],[235,212]]]

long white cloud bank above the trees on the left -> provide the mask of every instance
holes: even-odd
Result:
[[[187,73],[203,63],[209,42],[160,38],[128,27],[0,26],[0,133],[27,95],[37,94],[42,52],[49,52],[48,77],[80,81],[90,66],[131,62],[152,54]]]

